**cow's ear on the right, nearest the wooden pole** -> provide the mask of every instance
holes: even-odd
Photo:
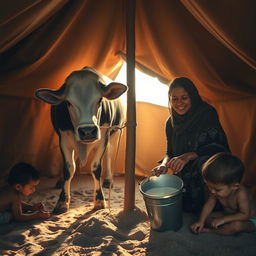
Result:
[[[102,96],[109,100],[114,100],[120,97],[128,89],[126,85],[116,82],[112,82],[107,86],[102,85],[101,88]]]

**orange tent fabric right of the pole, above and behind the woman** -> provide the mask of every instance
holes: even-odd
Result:
[[[247,184],[256,184],[255,7],[240,0],[137,1],[136,20],[136,61],[160,77],[195,82],[246,164]]]

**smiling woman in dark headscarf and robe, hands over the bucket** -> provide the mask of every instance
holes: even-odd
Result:
[[[170,169],[179,176],[184,182],[183,210],[197,212],[204,203],[201,166],[212,155],[229,151],[229,146],[216,110],[203,101],[190,79],[175,78],[168,94],[167,150],[152,175]]]

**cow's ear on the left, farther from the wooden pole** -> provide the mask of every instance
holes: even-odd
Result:
[[[63,94],[60,94],[59,90],[38,89],[36,90],[35,95],[38,99],[51,105],[60,104],[64,99]]]

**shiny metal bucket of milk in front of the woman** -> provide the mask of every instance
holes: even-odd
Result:
[[[170,174],[151,176],[140,183],[152,229],[177,231],[182,226],[182,188],[183,181]]]

